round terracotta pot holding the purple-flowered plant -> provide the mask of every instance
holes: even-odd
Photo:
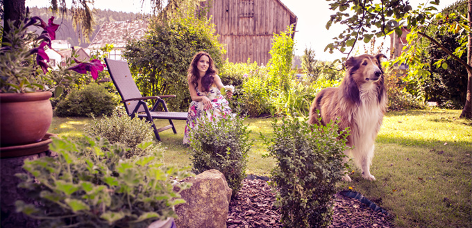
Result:
[[[50,91],[26,94],[0,94],[1,146],[40,141],[53,119]]]

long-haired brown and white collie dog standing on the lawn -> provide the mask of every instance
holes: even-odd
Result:
[[[375,141],[387,108],[387,91],[384,85],[383,70],[380,65],[383,54],[360,55],[346,61],[346,76],[339,87],[326,88],[317,94],[310,107],[308,123],[326,125],[339,118],[339,129],[349,128],[346,150],[352,153],[355,164],[362,170],[362,177],[375,180],[370,166]],[[317,113],[319,110],[319,114]],[[344,162],[348,161],[346,157]],[[345,175],[345,181],[351,177]]]

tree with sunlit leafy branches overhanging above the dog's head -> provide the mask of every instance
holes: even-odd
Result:
[[[400,36],[402,29],[407,28],[407,30],[410,30],[407,35],[407,48],[403,50],[401,57],[392,63],[407,64],[410,66],[409,73],[416,79],[423,80],[430,75],[430,71],[428,71],[429,63],[421,61],[423,50],[419,46],[421,44],[419,41],[421,38],[429,40],[441,51],[447,53],[448,58],[460,62],[467,69],[469,81],[466,87],[466,103],[461,117],[472,118],[472,67],[470,64],[472,59],[470,51],[472,36],[469,26],[470,19],[455,13],[438,13],[435,6],[439,4],[439,0],[421,3],[416,9],[412,8],[409,1],[404,0],[328,1],[332,2],[330,3],[330,9],[337,12],[331,16],[326,28],[329,29],[332,23],[344,24],[347,28],[335,38],[335,42],[328,44],[325,50],[329,49],[331,53],[333,50],[346,53],[346,48],[351,47],[351,50],[347,52],[351,53],[357,41],[369,42],[374,35],[380,37],[390,33],[397,33]],[[471,3],[469,1],[470,8]],[[351,9],[351,11],[346,11],[348,9]],[[436,26],[439,33],[444,33],[447,30],[450,33],[458,34],[461,48],[447,49],[446,46],[438,42],[437,37],[425,33],[428,26]],[[465,47],[467,47],[468,53],[468,61],[466,62],[460,59],[460,56],[466,53]],[[343,59],[345,60],[345,58]],[[442,61],[444,60],[439,60],[435,64],[442,65]]]

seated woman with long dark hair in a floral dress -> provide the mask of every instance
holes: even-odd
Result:
[[[183,136],[184,144],[189,143],[190,128],[195,127],[197,119],[201,116],[211,119],[212,115],[226,117],[231,114],[228,100],[221,96],[220,89],[224,85],[217,73],[210,54],[203,51],[196,53],[187,76],[192,103],[190,103]],[[226,95],[230,99],[233,93],[227,91]]]

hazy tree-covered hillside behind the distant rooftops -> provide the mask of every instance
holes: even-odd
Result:
[[[60,14],[54,14],[49,8],[30,8],[32,16],[38,16],[46,21],[49,17],[54,16],[54,23],[59,24],[59,29],[56,32],[56,40],[68,40],[72,46],[81,46],[86,48],[96,33],[99,32],[103,22],[108,21],[127,21],[135,19],[144,19],[144,15],[134,12],[117,12],[112,10],[95,9],[94,13],[94,30],[90,41],[83,38],[81,31],[74,30],[74,24],[70,17],[63,18]]]

